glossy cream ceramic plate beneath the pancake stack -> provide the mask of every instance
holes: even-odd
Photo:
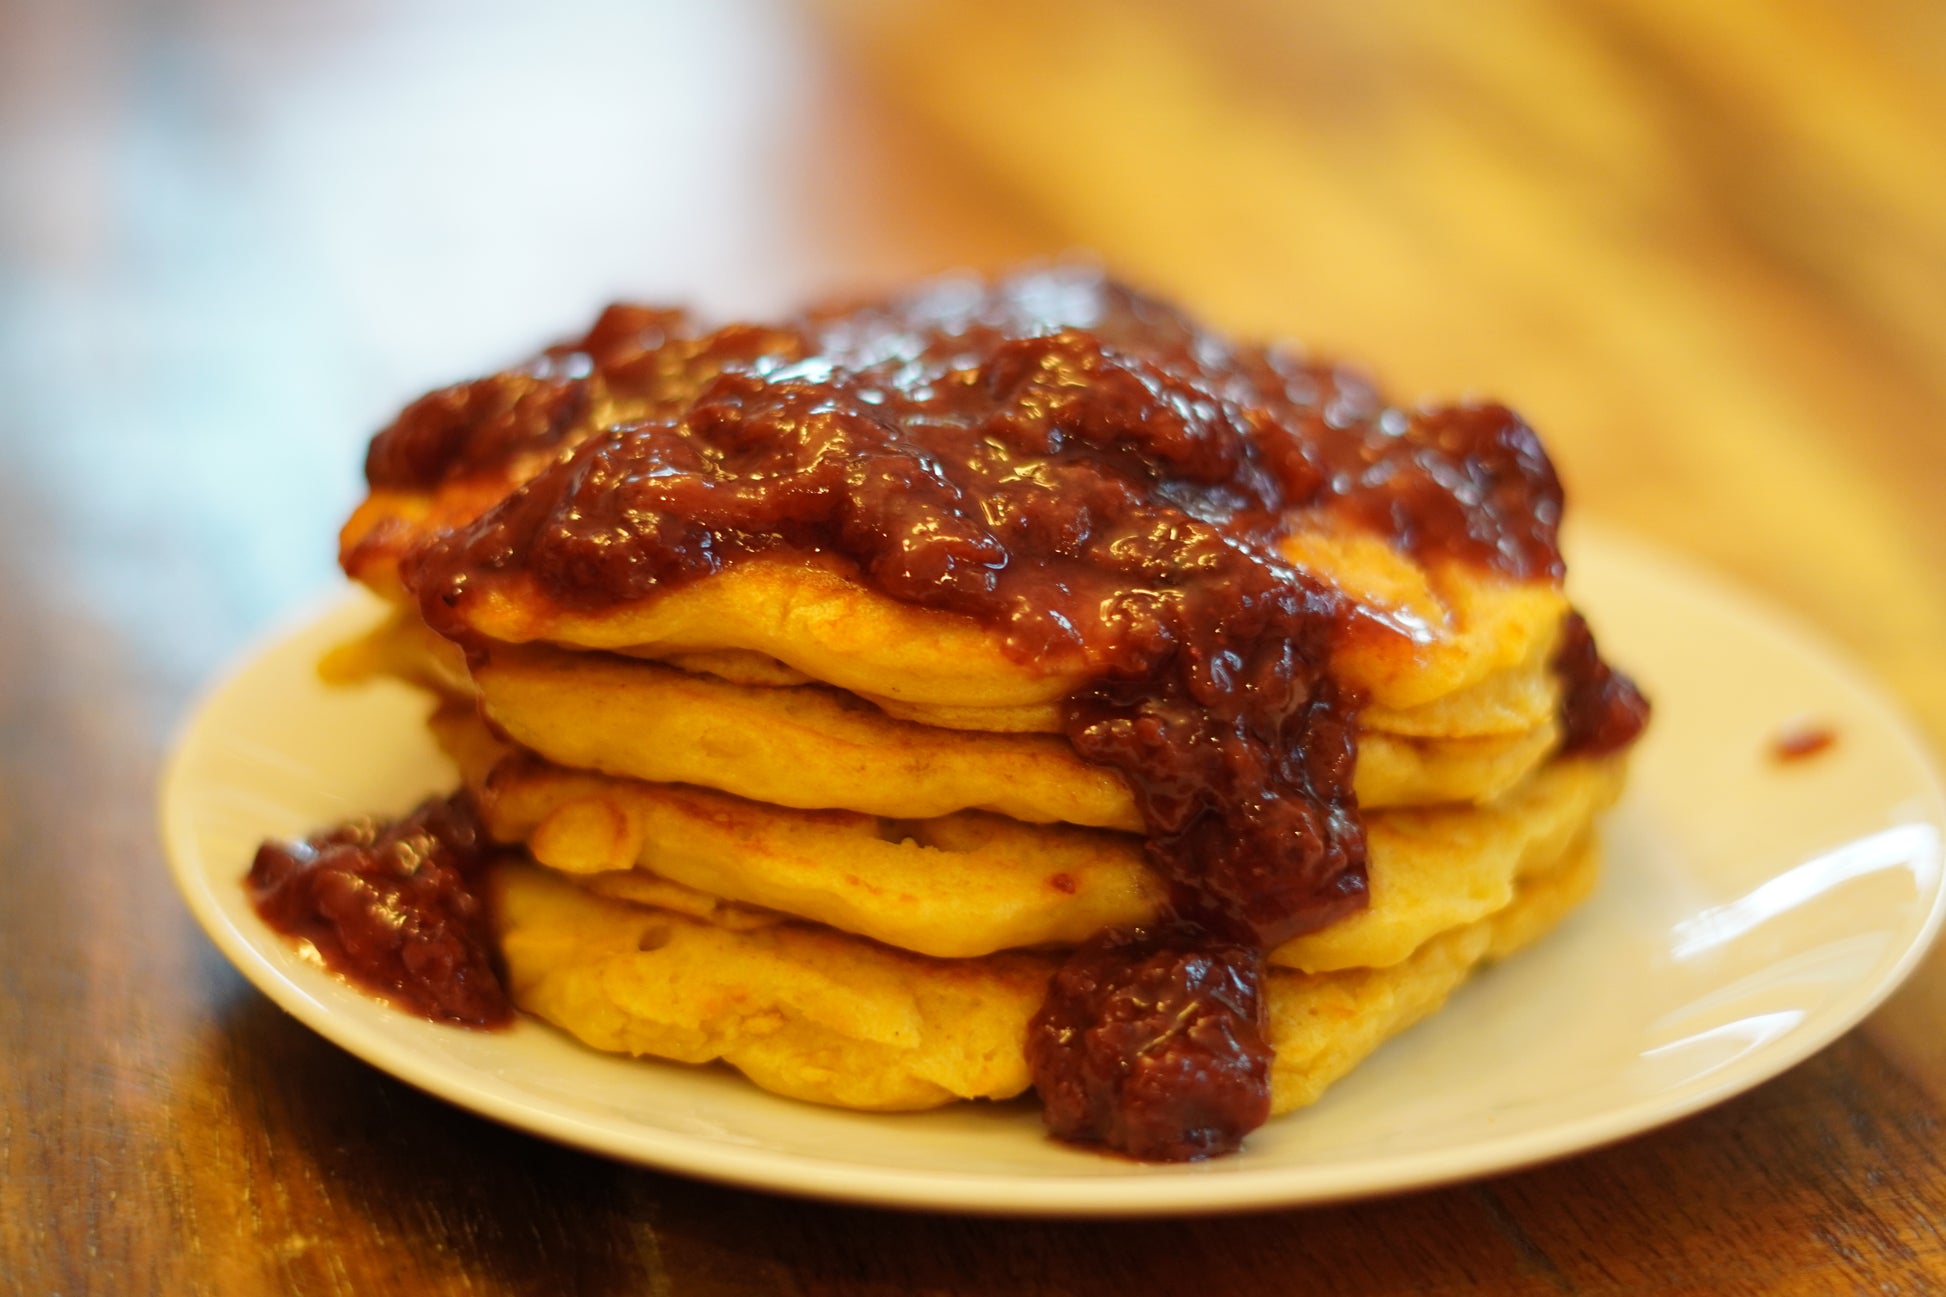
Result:
[[[1946,798],[1911,728],[1812,635],[1611,536],[1574,590],[1656,701],[1596,896],[1467,983],[1323,1102],[1242,1155],[1142,1167],[1051,1143],[1031,1102],[864,1116],[730,1071],[594,1054],[537,1022],[434,1026],[306,962],[251,911],[265,835],[399,812],[448,787],[403,687],[327,689],[319,652],[374,615],[348,598],[249,656],[197,709],[162,818],[191,909],[300,1020],[455,1104],[712,1180],[893,1207],[1140,1215],[1403,1190],[1561,1157],[1798,1063],[1872,1011],[1940,923]],[[1837,742],[1771,756],[1794,719]]]

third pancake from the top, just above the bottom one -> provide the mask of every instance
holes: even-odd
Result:
[[[570,771],[496,744],[463,709],[434,728],[481,818],[566,874],[625,871],[932,956],[1072,946],[1160,915],[1164,890],[1133,834],[961,812],[893,820],[804,812],[708,789]],[[1368,818],[1370,906],[1286,941],[1273,964],[1384,968],[1508,904],[1555,867],[1615,797],[1613,760],[1557,761],[1493,806]]]

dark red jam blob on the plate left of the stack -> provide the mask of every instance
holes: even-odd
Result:
[[[393,824],[360,818],[304,841],[267,841],[247,886],[265,923],[309,941],[327,968],[401,1009],[502,1026],[514,1009],[473,890],[492,851],[459,793]]]

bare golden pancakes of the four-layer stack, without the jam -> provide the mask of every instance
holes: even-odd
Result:
[[[401,563],[531,471],[376,489],[344,563],[395,615],[329,664],[438,695],[485,826],[525,857],[490,878],[516,1005],[847,1108],[1026,1091],[1064,952],[1166,904],[1131,789],[1061,734],[1080,668],[815,557],[609,608],[498,582],[463,606],[463,652]],[[1331,672],[1366,697],[1370,906],[1267,956],[1277,1112],[1586,896],[1621,779],[1619,754],[1561,756],[1557,580],[1352,524],[1282,547],[1356,610]]]

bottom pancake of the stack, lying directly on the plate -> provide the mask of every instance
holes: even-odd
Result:
[[[1315,1100],[1438,1009],[1483,960],[1594,886],[1592,843],[1520,882],[1496,913],[1389,968],[1267,974],[1273,1110]],[[843,1108],[1010,1098],[1029,1085],[1027,1020],[1059,954],[942,960],[804,923],[728,929],[595,896],[531,865],[490,876],[514,1003],[609,1052],[722,1059],[767,1091]]]

